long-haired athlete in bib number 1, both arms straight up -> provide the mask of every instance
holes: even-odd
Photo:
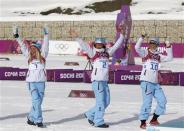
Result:
[[[30,48],[27,48],[19,37],[17,27],[14,28],[14,37],[20,45],[23,55],[28,61],[26,82],[32,97],[32,107],[27,116],[27,123],[43,127],[41,104],[44,97],[45,82],[47,80],[45,64],[49,51],[48,29],[44,27],[43,44],[41,44],[41,41],[34,41],[30,45]]]

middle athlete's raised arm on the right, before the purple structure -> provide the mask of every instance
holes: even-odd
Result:
[[[108,50],[108,53],[110,56],[112,56],[112,54],[121,46],[121,44],[123,43],[123,39],[124,39],[124,36],[122,34],[120,34],[120,37],[119,39],[116,41],[116,43],[111,47],[109,48]]]

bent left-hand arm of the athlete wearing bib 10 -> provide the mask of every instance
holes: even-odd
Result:
[[[137,43],[135,44],[135,51],[138,53],[138,55],[140,57],[144,57],[145,56],[145,50],[141,48],[141,44],[144,40],[144,37],[140,37],[137,41]]]

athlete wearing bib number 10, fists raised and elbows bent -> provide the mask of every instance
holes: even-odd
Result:
[[[141,128],[146,128],[146,120],[149,117],[152,106],[152,99],[155,98],[157,101],[157,107],[154,111],[151,125],[158,125],[159,122],[157,118],[165,112],[166,109],[166,97],[162,88],[158,83],[158,70],[160,62],[171,61],[173,58],[172,48],[169,42],[166,42],[166,52],[167,55],[162,55],[157,47],[159,45],[158,38],[152,38],[149,42],[148,49],[141,48],[141,43],[144,36],[139,38],[135,45],[135,50],[140,57],[143,58],[143,67],[140,76],[143,104],[141,107],[141,112],[139,119],[141,120]]]

